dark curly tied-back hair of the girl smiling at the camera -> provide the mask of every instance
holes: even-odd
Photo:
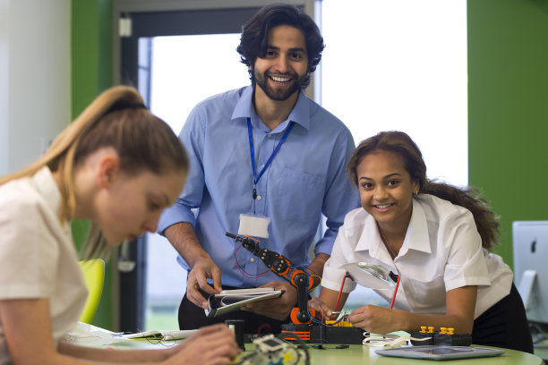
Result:
[[[489,203],[480,198],[476,188],[458,188],[448,183],[440,183],[426,178],[426,165],[423,154],[415,142],[404,132],[380,132],[362,141],[348,161],[347,174],[350,181],[357,185],[357,166],[365,156],[373,151],[384,150],[397,153],[404,159],[407,172],[419,184],[419,192],[431,194],[438,198],[449,200],[460,207],[467,208],[474,216],[477,232],[482,238],[482,246],[490,249],[499,243],[500,224],[497,216],[492,213]]]

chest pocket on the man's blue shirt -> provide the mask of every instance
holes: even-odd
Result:
[[[276,190],[280,214],[286,220],[318,219],[323,201],[323,178],[284,168]]]

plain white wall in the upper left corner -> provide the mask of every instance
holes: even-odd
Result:
[[[71,1],[0,0],[0,174],[71,121]]]

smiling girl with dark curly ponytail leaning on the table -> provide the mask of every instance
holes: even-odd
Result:
[[[355,149],[348,174],[363,208],[347,214],[311,308],[331,314],[345,265],[381,265],[400,277],[394,309],[364,305],[348,320],[385,334],[421,326],[471,333],[474,344],[533,352],[512,272],[487,249],[498,223],[474,191],[426,178],[420,150],[404,132],[381,132]],[[355,283],[347,280],[338,309]],[[377,291],[388,301],[392,293]]]

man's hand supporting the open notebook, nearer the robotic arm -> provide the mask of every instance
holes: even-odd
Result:
[[[242,310],[249,310],[261,316],[284,320],[289,317],[291,310],[296,305],[296,289],[287,282],[273,281],[261,287],[274,286],[276,290],[285,290],[279,298],[269,299],[266,301],[255,301],[242,307]]]

